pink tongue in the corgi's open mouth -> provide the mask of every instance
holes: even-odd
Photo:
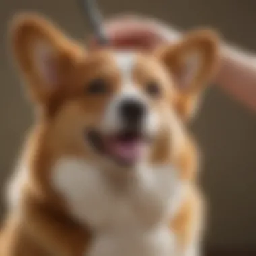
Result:
[[[127,162],[134,162],[141,155],[141,141],[112,141],[109,145],[111,153]]]

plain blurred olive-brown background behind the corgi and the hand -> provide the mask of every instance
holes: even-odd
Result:
[[[217,28],[226,40],[256,49],[255,0],[99,0],[104,14],[141,13],[190,29]],[[32,123],[7,45],[7,23],[19,11],[38,11],[71,36],[86,40],[76,0],[0,1],[0,186],[6,182]],[[205,247],[209,255],[256,255],[256,117],[213,86],[192,125],[204,154],[201,184],[210,204]],[[1,214],[3,213],[1,200]]]

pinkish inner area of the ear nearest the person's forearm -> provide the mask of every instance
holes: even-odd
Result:
[[[183,67],[177,75],[180,90],[188,90],[199,70],[199,56],[189,55],[183,60]]]

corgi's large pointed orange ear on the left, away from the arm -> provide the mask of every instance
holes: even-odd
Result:
[[[32,100],[42,104],[65,86],[75,56],[74,44],[48,20],[34,14],[15,17],[11,42]]]

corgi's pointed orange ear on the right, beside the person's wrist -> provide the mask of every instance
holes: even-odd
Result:
[[[177,86],[175,106],[183,119],[195,113],[203,88],[218,67],[218,36],[212,30],[196,30],[172,46],[162,46],[156,55]]]

